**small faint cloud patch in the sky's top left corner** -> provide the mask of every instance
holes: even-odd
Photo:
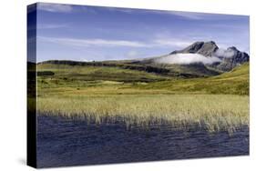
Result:
[[[37,9],[53,13],[69,13],[73,11],[72,5],[59,5],[48,3],[39,3],[37,5]]]

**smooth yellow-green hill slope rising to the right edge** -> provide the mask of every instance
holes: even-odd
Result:
[[[137,85],[142,89],[166,89],[175,94],[230,94],[249,95],[249,63],[232,71],[208,78],[176,79]]]

